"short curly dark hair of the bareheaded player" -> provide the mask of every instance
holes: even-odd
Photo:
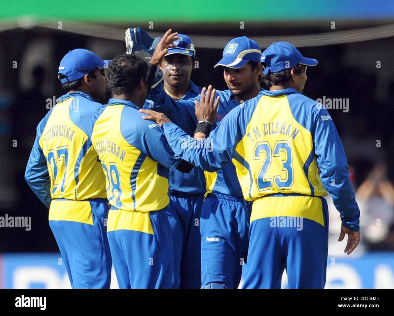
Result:
[[[108,67],[108,84],[113,95],[132,93],[141,78],[147,80],[148,64],[134,54],[115,56]]]

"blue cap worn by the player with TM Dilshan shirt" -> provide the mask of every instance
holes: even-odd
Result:
[[[266,63],[263,74],[289,69],[297,64],[316,66],[318,61],[306,58],[293,45],[287,42],[273,42],[264,50],[261,62]]]

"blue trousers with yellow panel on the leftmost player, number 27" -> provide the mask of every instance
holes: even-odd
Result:
[[[108,209],[106,199],[56,199],[51,203],[49,226],[72,288],[110,288],[112,259],[106,236]]]

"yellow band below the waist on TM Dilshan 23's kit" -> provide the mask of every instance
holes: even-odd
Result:
[[[268,196],[252,204],[250,221],[265,217],[297,216],[316,221],[324,226],[322,201],[311,196]]]

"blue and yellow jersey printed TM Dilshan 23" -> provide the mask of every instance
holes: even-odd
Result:
[[[328,191],[343,224],[359,229],[360,212],[333,120],[295,89],[262,91],[235,108],[204,140],[209,146],[184,149],[180,128],[165,123],[162,129],[175,153],[193,165],[215,171],[233,162],[244,199],[254,201],[251,220],[303,216],[324,225],[316,197]]]

